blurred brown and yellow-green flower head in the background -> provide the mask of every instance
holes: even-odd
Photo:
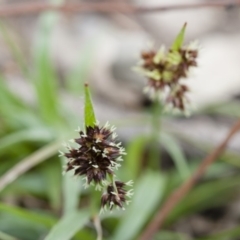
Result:
[[[195,43],[181,47],[178,50],[142,52],[140,71],[148,78],[145,91],[151,98],[158,98],[173,108],[184,111],[187,102],[188,87],[181,83],[187,78],[189,69],[196,67],[198,51]]]

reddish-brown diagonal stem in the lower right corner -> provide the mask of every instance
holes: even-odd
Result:
[[[154,234],[161,228],[164,220],[171,210],[180,202],[180,200],[192,189],[196,182],[205,173],[207,168],[222,154],[231,138],[240,130],[240,120],[233,125],[224,141],[213,150],[199,165],[195,173],[175,190],[161,206],[154,219],[146,227],[139,240],[150,240]]]

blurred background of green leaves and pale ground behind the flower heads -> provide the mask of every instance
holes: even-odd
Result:
[[[1,0],[0,10],[81,2],[102,1]],[[119,2],[180,4],[111,1]],[[89,82],[98,120],[117,126],[128,152],[119,170],[121,180],[135,182],[128,209],[101,216],[103,239],[138,239],[166,197],[240,116],[238,5],[131,14],[0,14],[0,239],[44,239],[62,216],[87,209],[88,190],[80,179],[62,176],[64,160],[58,157],[61,143],[76,138],[74,129],[83,127],[84,82]],[[200,44],[198,68],[185,81],[191,89],[191,115],[162,116],[161,158],[153,168],[148,164],[152,103],[143,94],[146,79],[132,68],[149,46],[170,46],[185,22],[185,42]],[[239,146],[237,134],[154,239],[240,239]],[[91,221],[75,233],[71,239],[96,239]]]

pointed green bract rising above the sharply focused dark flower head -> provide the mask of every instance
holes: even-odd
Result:
[[[85,127],[93,127],[96,124],[96,118],[93,110],[92,99],[89,91],[88,84],[85,83],[85,106],[84,106],[84,122]]]

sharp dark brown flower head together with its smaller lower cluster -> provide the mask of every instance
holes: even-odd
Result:
[[[115,127],[109,127],[108,123],[103,127],[87,126],[85,131],[79,130],[80,137],[73,140],[77,147],[68,145],[68,152],[62,153],[67,158],[66,171],[83,176],[85,187],[95,185],[98,190],[107,189],[107,195],[102,196],[102,207],[109,203],[110,209],[113,206],[123,208],[126,197],[131,197],[123,188],[129,186],[129,182],[108,182],[108,178],[114,179],[115,170],[123,161],[122,155],[126,154],[121,142],[116,142],[114,131]]]

